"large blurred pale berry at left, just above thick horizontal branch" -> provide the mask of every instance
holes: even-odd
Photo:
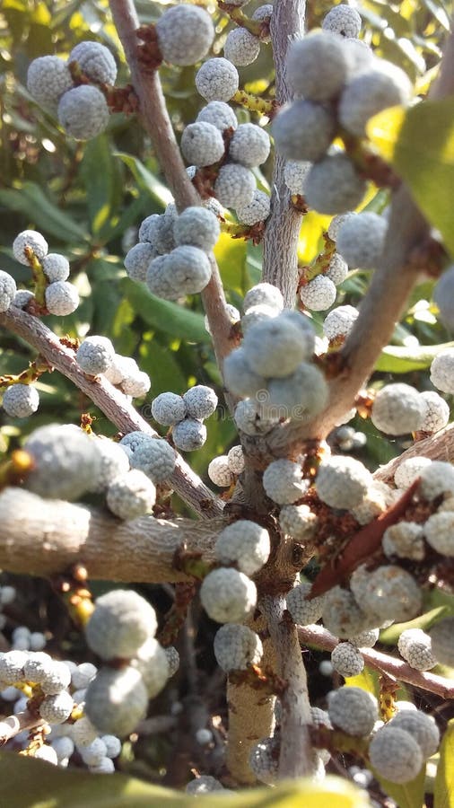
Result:
[[[73,502],[99,476],[97,444],[74,426],[41,426],[29,435],[23,448],[35,462],[25,486],[39,496]]]

